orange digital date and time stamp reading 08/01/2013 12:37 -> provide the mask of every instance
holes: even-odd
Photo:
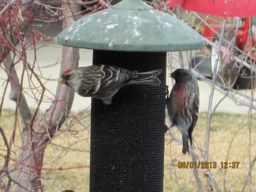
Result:
[[[238,168],[239,161],[221,161],[219,168]],[[178,168],[217,168],[217,162],[216,161],[179,161],[178,162]]]

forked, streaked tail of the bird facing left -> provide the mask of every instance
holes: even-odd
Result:
[[[161,84],[157,76],[162,72],[162,70],[154,70],[151,72],[140,72],[135,81],[131,82],[132,84],[151,84],[158,86]]]

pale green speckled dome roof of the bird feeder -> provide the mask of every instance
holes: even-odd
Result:
[[[58,35],[58,43],[76,48],[163,52],[204,47],[190,26],[142,0],[122,0],[86,16]]]

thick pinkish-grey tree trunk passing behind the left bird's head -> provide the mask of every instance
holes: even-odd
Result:
[[[65,9],[63,16],[66,18],[63,21],[63,29],[79,19],[79,15],[74,16],[74,14],[80,11],[80,5],[72,2],[74,1],[62,5]],[[78,66],[78,60],[78,48],[63,47],[60,75],[63,71]],[[66,85],[58,84],[54,102],[44,117],[25,124],[18,166],[21,172],[17,177],[17,182],[23,187],[17,185],[15,192],[37,192],[42,187],[40,175],[46,146],[56,129],[58,130],[66,120],[73,104],[73,97],[73,90]]]

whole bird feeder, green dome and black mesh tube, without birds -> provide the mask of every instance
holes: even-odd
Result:
[[[166,52],[202,48],[202,37],[142,0],[122,0],[73,23],[58,43],[93,49],[93,64],[162,70],[159,86],[123,86],[111,105],[92,98],[90,150],[90,192],[162,192]]]

